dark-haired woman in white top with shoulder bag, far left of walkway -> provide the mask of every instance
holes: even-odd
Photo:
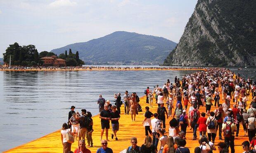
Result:
[[[68,153],[69,151],[71,151],[71,143],[66,141],[66,133],[68,132],[71,133],[71,130],[68,128],[68,125],[66,123],[63,123],[62,130],[60,130],[63,145],[63,153]]]

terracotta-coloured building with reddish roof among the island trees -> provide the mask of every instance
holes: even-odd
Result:
[[[43,58],[40,58],[40,60],[43,60],[44,62],[43,66],[56,66],[56,67],[66,66],[66,60],[57,58],[57,56],[43,57]]]

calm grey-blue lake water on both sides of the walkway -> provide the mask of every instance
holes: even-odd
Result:
[[[232,71],[254,76],[255,68]],[[144,95],[147,86],[162,86],[167,79],[181,78],[194,71],[0,71],[0,152],[42,137],[67,122],[72,105],[98,114],[102,94],[114,101],[114,93]],[[245,75],[246,74],[246,75]],[[122,96],[123,97],[123,96]]]

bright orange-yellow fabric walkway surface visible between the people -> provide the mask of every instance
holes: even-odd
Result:
[[[221,95],[220,95],[221,97]],[[119,153],[123,149],[127,148],[130,146],[130,138],[131,137],[137,137],[138,139],[138,146],[141,146],[144,143],[144,138],[145,138],[145,128],[142,125],[142,121],[144,119],[144,113],[145,113],[145,107],[148,106],[146,102],[146,97],[141,97],[140,98],[140,105],[142,106],[142,112],[139,112],[139,115],[136,116],[136,121],[132,122],[130,115],[123,115],[124,109],[123,105],[121,107],[121,118],[119,120],[119,125],[120,125],[120,130],[117,133],[118,141],[111,139],[111,131],[109,131],[109,141],[108,147],[112,148],[114,153]],[[251,102],[251,97],[249,102]],[[249,103],[248,102],[248,103]],[[183,102],[182,102],[183,103]],[[220,104],[222,104],[223,101],[220,100]],[[233,102],[230,104],[231,106],[233,105]],[[85,108],[86,109],[86,108]],[[157,109],[157,104],[155,104],[155,100],[153,101],[153,108],[150,108],[150,111],[152,113],[155,113]],[[211,111],[213,111],[214,106],[211,107]],[[77,109],[75,110],[77,111]],[[80,111],[80,110],[79,110]],[[188,111],[188,110],[187,110]],[[205,107],[200,107],[199,109],[200,113],[205,112]],[[173,115],[172,115],[173,116]],[[173,117],[171,117],[173,118]],[[166,131],[168,135],[168,123],[171,118],[168,118],[166,120]],[[93,139],[93,147],[89,148],[92,153],[95,153],[97,151],[97,148],[101,147],[101,142],[100,142],[100,132],[101,132],[101,125],[100,125],[100,118],[99,115],[96,115],[93,117],[93,129],[94,132],[92,133],[92,139]],[[60,127],[62,125],[59,125]],[[110,127],[111,128],[111,127]],[[111,129],[109,129],[111,130]],[[217,132],[218,133],[218,132]],[[190,130],[190,128],[187,128],[187,145],[190,149],[190,152],[194,152],[194,148],[199,146],[198,139],[197,140],[192,140],[192,135],[193,132]],[[197,135],[199,136],[199,131],[197,132]],[[239,130],[239,137],[235,137],[235,151],[236,153],[242,153],[242,142],[248,140],[248,137],[244,137],[244,131],[242,128],[242,125],[240,125],[240,130]],[[105,139],[103,135],[103,139]],[[224,137],[223,137],[224,139]],[[223,140],[224,141],[224,140]],[[215,144],[218,144],[218,134],[216,136],[216,141]],[[87,142],[86,142],[87,143]],[[71,146],[71,151],[74,151],[75,148],[78,146],[78,141],[75,141],[72,146]],[[217,148],[217,146],[216,146]],[[6,153],[62,153],[62,142],[61,142],[61,137],[60,137],[60,130],[57,130],[56,132],[50,133],[44,137],[41,137],[39,139],[33,140],[31,142],[28,142],[26,144],[23,144],[21,146],[17,146],[15,148],[12,148]],[[213,153],[217,153],[217,151],[213,151]]]

